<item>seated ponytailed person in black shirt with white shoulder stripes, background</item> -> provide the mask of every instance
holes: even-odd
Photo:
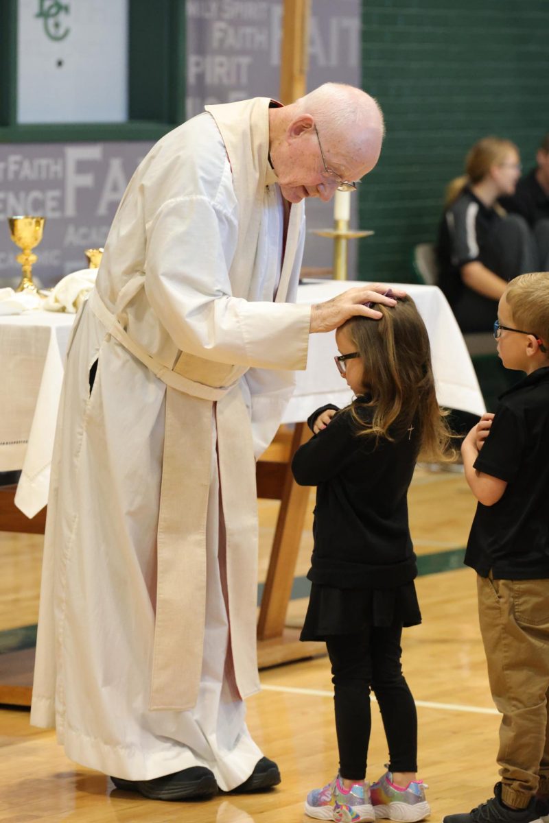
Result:
[[[498,202],[514,193],[520,170],[513,142],[484,137],[468,152],[465,176],[447,188],[439,285],[463,332],[490,331],[507,282],[537,267],[528,224]]]

